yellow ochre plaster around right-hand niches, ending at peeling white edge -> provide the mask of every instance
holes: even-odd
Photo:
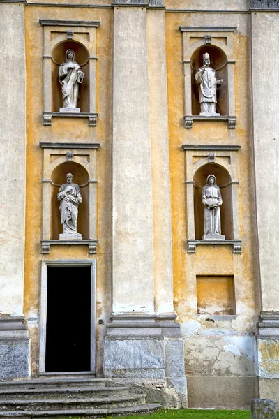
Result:
[[[185,3],[188,4],[188,2]],[[179,8],[183,8],[182,2],[179,2]],[[215,8],[218,8],[218,4]],[[251,165],[248,19],[248,15],[237,13],[165,13],[174,309],[179,316],[179,323],[195,320],[199,321],[199,328],[202,329],[220,327],[218,320],[213,324],[197,316],[195,277],[196,275],[232,275],[235,276],[236,315],[238,318],[233,321],[234,324],[230,325],[229,328],[233,328],[236,332],[249,333],[255,329],[255,318],[259,303],[253,224],[255,220]],[[179,30],[180,26],[237,27],[234,33],[236,129],[228,129],[225,121],[194,121],[192,129],[183,128],[183,34]],[[185,152],[181,147],[183,144],[241,146],[241,149],[237,152],[241,254],[233,254],[231,246],[213,245],[197,246],[195,254],[186,253]]]

